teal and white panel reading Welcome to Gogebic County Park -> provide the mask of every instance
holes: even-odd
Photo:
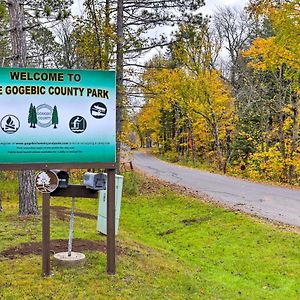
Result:
[[[112,163],[114,71],[0,68],[0,164]]]

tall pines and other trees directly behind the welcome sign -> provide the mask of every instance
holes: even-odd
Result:
[[[86,0],[76,16],[72,3],[0,0],[1,66],[116,69],[118,165],[123,120],[139,85],[137,59],[170,43],[167,36],[151,38],[149,32],[157,26],[201,22],[193,12],[203,0]],[[19,177],[19,213],[36,214],[33,174],[21,172]]]

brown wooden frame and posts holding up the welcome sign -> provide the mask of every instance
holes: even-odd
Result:
[[[27,70],[27,68],[1,68],[11,70]],[[28,69],[29,70],[29,69]],[[61,70],[61,69],[30,69],[30,70],[45,70],[45,72],[51,71],[92,71],[92,70]],[[104,71],[102,71],[104,72]],[[111,71],[109,71],[111,72]],[[114,72],[114,76],[115,76]],[[0,81],[0,97],[3,92]],[[116,85],[114,83],[114,89]],[[96,102],[96,100],[95,100]],[[116,103],[116,101],[115,101]],[[116,120],[116,119],[115,119]],[[115,125],[114,125],[115,126]],[[115,159],[108,162],[38,162],[38,163],[1,163],[0,170],[43,170],[48,171],[51,169],[89,169],[99,168],[105,169],[107,172],[107,265],[106,271],[109,275],[114,275],[116,272],[116,244],[115,244],[115,174],[116,174],[116,131],[114,132],[114,149]],[[1,139],[1,138],[0,138]],[[101,153],[99,153],[101,155]],[[81,197],[81,198],[97,198],[90,190],[87,190],[85,186],[70,186],[66,190],[56,190],[52,193],[42,194],[42,275],[51,275],[50,268],[50,197]]]

